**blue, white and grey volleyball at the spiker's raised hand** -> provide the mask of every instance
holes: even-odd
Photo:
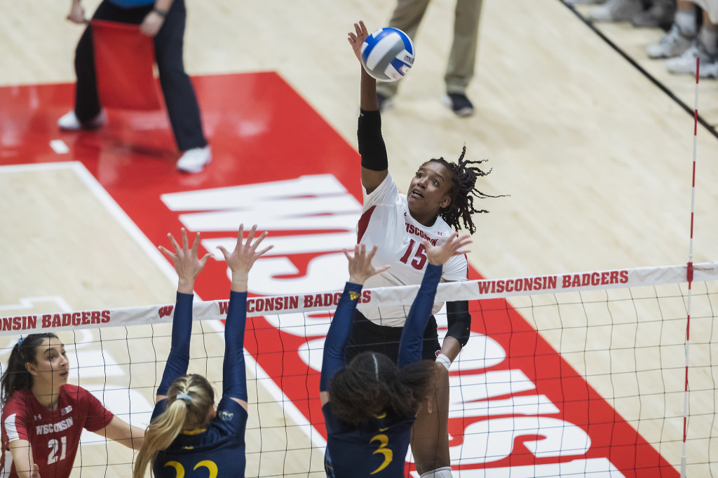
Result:
[[[361,62],[377,80],[396,81],[414,65],[414,43],[400,29],[380,28],[370,34],[361,46]]]

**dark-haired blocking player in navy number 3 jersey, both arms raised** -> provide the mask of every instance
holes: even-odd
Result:
[[[358,244],[349,260],[349,281],[337,305],[324,347],[320,396],[327,426],[325,469],[330,478],[403,477],[411,428],[419,405],[433,385],[434,363],[421,360],[424,329],[432,314],[442,265],[463,254],[468,235],[454,233],[440,245],[423,241],[428,264],[419,292],[402,329],[398,359],[381,352],[362,352],[348,364],[345,346],[365,281],[386,271],[376,268]]]

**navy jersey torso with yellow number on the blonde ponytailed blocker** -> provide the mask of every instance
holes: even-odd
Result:
[[[152,419],[164,412],[167,399],[154,406]],[[223,398],[217,416],[202,431],[182,432],[152,464],[157,478],[244,477],[244,431],[247,411],[231,398]]]

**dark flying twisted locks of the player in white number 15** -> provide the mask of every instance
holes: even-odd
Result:
[[[439,210],[439,215],[442,217],[447,224],[454,230],[460,230],[462,225],[459,220],[463,222],[463,227],[469,230],[470,234],[476,232],[476,226],[472,220],[471,215],[476,212],[488,212],[485,209],[474,208],[474,197],[484,199],[485,197],[500,197],[491,196],[484,194],[483,192],[476,189],[476,179],[480,176],[486,176],[491,172],[483,171],[479,167],[471,166],[471,164],[481,164],[487,160],[482,161],[469,161],[464,159],[466,155],[466,146],[461,151],[461,156],[454,163],[447,161],[444,158],[429,159],[426,162],[435,162],[444,165],[449,174],[451,175],[451,187],[449,188],[448,195],[451,198],[451,202],[447,207],[442,207]]]

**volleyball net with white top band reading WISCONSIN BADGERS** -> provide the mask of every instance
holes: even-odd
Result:
[[[469,300],[472,315],[472,337],[449,373],[454,477],[668,477],[679,476],[682,459],[688,476],[718,476],[718,263],[692,266],[690,287],[687,276],[687,266],[666,266],[439,284],[437,301]],[[319,375],[340,286],[248,300],[248,477],[324,474]],[[417,290],[367,289],[361,300],[409,306]],[[190,372],[218,393],[227,308],[194,307]],[[144,427],[172,311],[0,317],[0,364],[21,334],[57,332],[70,383]],[[443,337],[444,309],[437,322]],[[408,476],[418,476],[406,459]],[[132,461],[132,451],[85,432],[73,476],[126,477]]]

